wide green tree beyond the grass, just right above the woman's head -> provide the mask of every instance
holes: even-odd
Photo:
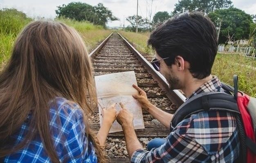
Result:
[[[118,20],[102,3],[93,7],[87,3],[71,2],[67,5],[63,4],[62,6],[58,6],[55,12],[59,18],[64,17],[77,21],[89,21],[104,27],[106,27],[108,21]]]

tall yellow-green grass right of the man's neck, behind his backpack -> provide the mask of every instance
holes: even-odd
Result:
[[[239,90],[256,97],[256,60],[239,54],[217,54],[212,74],[233,86],[233,75],[238,75]]]

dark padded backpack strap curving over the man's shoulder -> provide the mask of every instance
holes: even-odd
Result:
[[[229,112],[239,113],[236,99],[233,95],[221,92],[205,92],[195,95],[182,104],[171,120],[171,131],[183,119],[192,114],[207,110],[227,110]]]

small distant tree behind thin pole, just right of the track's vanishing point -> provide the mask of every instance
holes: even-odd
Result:
[[[136,15],[128,16],[126,18],[130,25],[126,29],[135,32],[136,31]],[[146,19],[138,15],[138,31],[146,30]]]

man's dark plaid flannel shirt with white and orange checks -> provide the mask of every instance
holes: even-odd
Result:
[[[191,97],[202,92],[224,92],[221,86],[213,76]],[[235,116],[226,111],[205,111],[177,124],[159,148],[136,150],[131,163],[233,163],[239,148]]]

